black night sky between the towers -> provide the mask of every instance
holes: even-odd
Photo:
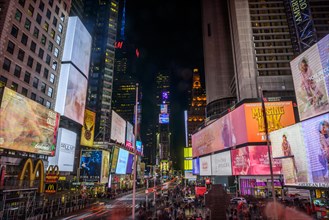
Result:
[[[184,113],[188,108],[192,69],[203,73],[202,27],[200,0],[146,1],[127,0],[126,37],[140,50],[137,67],[143,85],[142,129],[149,123],[145,117],[153,108],[150,86],[158,70],[172,71],[171,128],[172,155],[182,152],[185,145]],[[172,122],[175,123],[172,123]],[[182,155],[181,155],[182,157]],[[182,166],[183,160],[173,158]]]

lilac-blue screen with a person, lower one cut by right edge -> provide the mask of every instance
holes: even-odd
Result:
[[[329,183],[329,114],[302,122],[310,175],[314,183]]]

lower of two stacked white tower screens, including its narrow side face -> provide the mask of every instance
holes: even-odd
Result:
[[[83,124],[88,81],[73,65],[62,64],[55,111]]]

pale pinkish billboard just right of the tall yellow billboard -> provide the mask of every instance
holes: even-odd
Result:
[[[111,140],[119,144],[126,143],[126,121],[112,110]]]

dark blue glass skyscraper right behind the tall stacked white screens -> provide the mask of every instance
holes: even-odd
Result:
[[[99,139],[109,133],[119,4],[117,0],[84,3],[84,24],[93,38],[87,107],[96,111],[95,138]]]

